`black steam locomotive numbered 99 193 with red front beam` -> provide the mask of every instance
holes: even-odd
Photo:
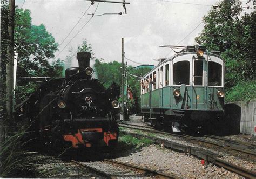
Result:
[[[116,146],[120,89],[114,82],[106,89],[92,78],[90,58],[90,52],[78,52],[79,67],[45,82],[16,108],[16,119],[41,143],[54,148]]]

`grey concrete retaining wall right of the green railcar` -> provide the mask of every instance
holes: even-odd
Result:
[[[226,106],[226,112],[233,121],[238,123],[240,117],[240,133],[256,136],[256,100],[233,102]]]

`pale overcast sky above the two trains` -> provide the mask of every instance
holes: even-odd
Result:
[[[112,0],[113,1],[113,0]],[[122,0],[114,0],[122,1]],[[218,1],[214,0],[126,0],[127,14],[94,16],[98,2],[91,5],[85,0],[16,0],[16,5],[23,9],[30,9],[32,24],[44,24],[46,30],[52,34],[56,42],[63,42],[55,53],[70,42],[57,58],[64,60],[70,47],[77,49],[83,39],[92,45],[96,58],[104,61],[121,61],[121,39],[124,38],[125,56],[131,60],[145,64],[157,64],[153,59],[165,58],[171,50],[159,45],[194,45],[194,38],[204,27],[201,23],[204,15]],[[24,3],[24,4],[23,4]],[[124,12],[122,4],[99,3],[95,14]],[[201,23],[201,24],[200,24]],[[200,25],[199,25],[200,24]],[[85,26],[84,26],[85,25]],[[82,29],[82,27],[84,28]],[[190,34],[191,33],[191,34]],[[187,38],[185,38],[188,34]],[[185,39],[184,39],[185,38]],[[182,41],[181,41],[182,40]],[[138,64],[127,61],[129,65]],[[77,60],[72,65],[77,66]]]

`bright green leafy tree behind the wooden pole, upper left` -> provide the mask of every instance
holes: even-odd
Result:
[[[8,22],[8,5],[2,2],[2,79],[5,82],[5,66],[6,66],[6,43],[8,40],[7,25]],[[53,60],[54,53],[58,50],[58,43],[55,42],[53,36],[45,29],[43,24],[32,25],[31,12],[26,9],[15,8],[15,51],[18,53],[17,77],[19,76],[48,76],[60,77],[63,71],[63,61],[60,59]],[[26,85],[28,81],[17,78],[16,94],[18,94],[19,86]],[[30,92],[31,85],[28,88]],[[26,91],[24,91],[26,93]],[[17,95],[16,95],[17,97]]]

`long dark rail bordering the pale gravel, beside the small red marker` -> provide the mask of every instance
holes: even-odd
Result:
[[[248,170],[244,167],[237,166],[235,164],[226,162],[224,160],[220,160],[217,158],[217,157],[219,157],[218,154],[214,154],[214,153],[204,150],[204,149],[191,147],[191,146],[185,146],[183,144],[179,144],[176,142],[168,141],[165,139],[160,139],[157,137],[150,137],[150,136],[146,136],[146,135],[142,135],[142,134],[136,134],[136,133],[130,133],[130,132],[122,132],[122,133],[124,133],[126,135],[132,135],[133,137],[137,137],[139,139],[142,139],[142,138],[150,139],[154,143],[160,144],[162,147],[165,146],[165,147],[174,149],[176,151],[183,152],[184,154],[194,155],[194,156],[198,157],[199,159],[204,159],[206,161],[206,164],[208,162],[211,162],[211,163],[215,164],[216,166],[223,167],[227,170],[230,170],[230,171],[232,171],[236,174],[239,174],[241,176],[244,176],[246,178],[255,178],[256,177],[255,171]]]

